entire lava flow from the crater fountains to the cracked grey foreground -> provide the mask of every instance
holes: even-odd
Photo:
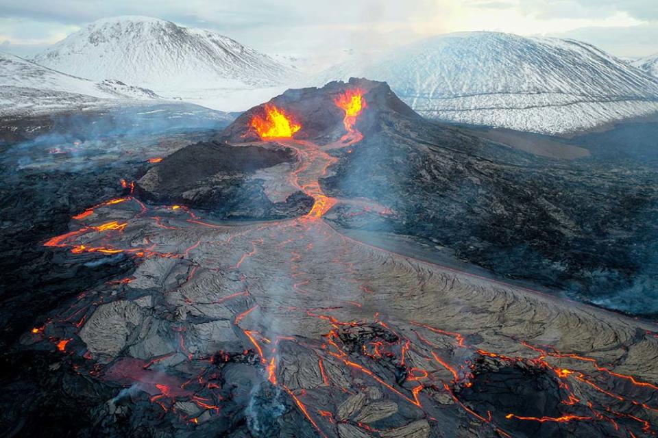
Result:
[[[263,128],[298,157],[268,193],[312,196],[306,216],[223,224],[132,192],[81,211],[45,245],[133,257],[136,270],[26,336],[117,385],[103,415],[132,404],[176,436],[655,435],[655,325],[369,246],[323,219],[361,202],[319,179],[330,151],[363,138],[362,99],[337,101],[336,142]]]

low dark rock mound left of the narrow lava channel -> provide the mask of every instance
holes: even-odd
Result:
[[[258,169],[282,163],[296,163],[291,149],[199,142],[151,168],[136,190],[149,201],[182,203],[220,217],[272,219],[306,214],[313,206],[310,196],[296,192],[286,202],[273,203],[263,184],[250,178]]]

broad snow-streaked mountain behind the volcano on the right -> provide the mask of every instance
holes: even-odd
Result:
[[[438,36],[313,78],[387,81],[414,110],[456,123],[561,134],[658,111],[658,81],[574,40]]]

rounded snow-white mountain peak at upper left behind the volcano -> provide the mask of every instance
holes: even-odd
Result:
[[[244,110],[253,90],[280,88],[297,75],[226,36],[143,16],[95,21],[33,60],[71,75],[119,79],[195,103],[239,92],[244,107],[226,107],[225,101],[223,110]]]

